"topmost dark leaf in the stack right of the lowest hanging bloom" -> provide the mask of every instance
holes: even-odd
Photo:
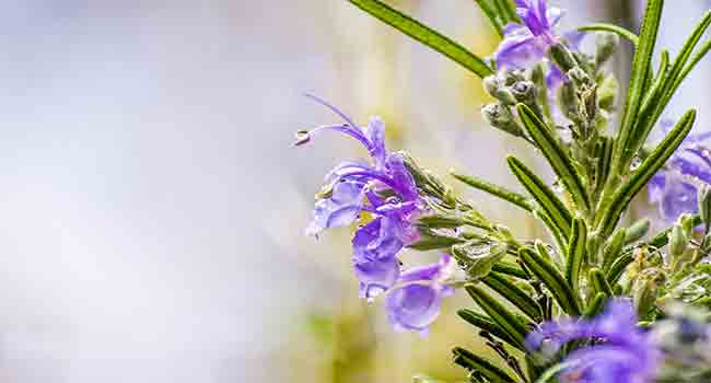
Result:
[[[518,252],[521,260],[550,291],[560,307],[569,315],[580,316],[578,294],[570,288],[566,278],[544,257],[531,248]]]

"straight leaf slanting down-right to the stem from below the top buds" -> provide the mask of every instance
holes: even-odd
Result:
[[[556,175],[566,185],[578,208],[582,210],[590,209],[587,190],[578,171],[575,171],[570,155],[560,146],[551,129],[528,106],[518,104],[516,109],[518,111],[518,117],[526,127],[526,131],[544,153]]]

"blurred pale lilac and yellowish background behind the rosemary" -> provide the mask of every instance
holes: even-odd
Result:
[[[639,1],[553,2],[567,26],[639,21]],[[497,44],[470,0],[388,3],[482,56]],[[661,44],[709,7],[668,1]],[[428,167],[515,187],[505,152],[543,163],[482,126],[478,79],[341,0],[7,0],[0,32],[0,382],[463,380],[465,297],[429,338],[396,334],[357,298],[349,231],[303,235],[323,175],[364,153],[291,143],[337,120],[313,92],[383,116],[389,148]],[[710,85],[707,61],[669,117],[697,105],[709,129]]]

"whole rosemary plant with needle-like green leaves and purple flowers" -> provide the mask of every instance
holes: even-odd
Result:
[[[660,121],[711,48],[700,44],[711,11],[673,56],[656,47],[663,0],[648,1],[639,33],[604,23],[558,31],[562,11],[546,0],[476,0],[502,38],[480,58],[382,1],[350,2],[480,77],[496,100],[482,107],[485,120],[534,147],[557,177],[547,184],[515,154],[505,163],[525,194],[475,175],[438,176],[387,151],[381,119],[361,127],[310,96],[341,123],[299,131],[296,144],[339,131],[371,156],[326,176],[307,229],[318,235],[358,223],[352,265],[361,295],[384,297],[395,328],[424,334],[442,299],[465,290],[478,310],[458,315],[500,357],[455,348],[470,382],[711,382],[709,135],[689,136],[695,109]],[[594,51],[583,51],[583,38],[595,39]],[[620,39],[634,46],[623,92],[605,65]],[[657,126],[664,139],[650,142]],[[525,210],[549,236],[514,236],[448,179]],[[662,232],[649,234],[648,219],[622,224],[645,188],[657,219],[669,223]],[[406,248],[439,251],[441,260],[405,267]]]

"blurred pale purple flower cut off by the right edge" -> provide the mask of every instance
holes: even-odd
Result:
[[[662,130],[673,125],[662,121]],[[658,204],[665,220],[675,221],[684,212],[698,212],[697,190],[701,184],[711,184],[711,151],[701,144],[711,132],[686,138],[663,170],[650,181],[649,200]]]

